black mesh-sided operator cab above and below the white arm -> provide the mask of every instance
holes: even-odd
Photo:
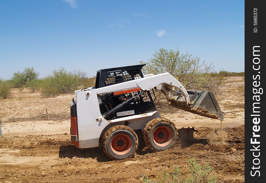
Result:
[[[131,81],[139,78],[143,78],[142,67],[146,64],[134,65],[134,66],[125,66],[125,67],[116,67],[110,69],[101,69],[97,71],[95,88],[101,88],[113,84],[118,84],[126,81]],[[123,101],[130,99],[133,96],[138,95],[141,92],[133,91],[126,94],[115,95],[114,92],[107,93],[105,95],[99,96],[101,103],[99,105],[101,114],[105,114],[109,110],[118,106]],[[152,95],[150,91],[144,92],[138,97],[136,97],[133,101],[123,106],[121,109],[115,111],[112,115],[107,117],[107,120],[112,120],[115,118],[125,117],[125,116],[117,116],[117,113],[124,111],[132,111],[134,110],[134,114],[143,114],[151,111],[156,111],[156,107],[154,105],[155,95],[152,90]]]

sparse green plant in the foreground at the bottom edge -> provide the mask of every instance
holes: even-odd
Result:
[[[189,171],[181,174],[178,167],[168,173],[163,170],[163,173],[160,173],[158,170],[157,177],[155,180],[149,179],[147,176],[142,175],[142,182],[153,182],[153,183],[215,183],[216,177],[211,176],[213,171],[212,167],[209,164],[199,165],[194,158],[191,158],[188,161]]]

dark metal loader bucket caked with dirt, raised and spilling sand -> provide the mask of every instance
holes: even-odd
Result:
[[[211,91],[187,90],[187,93],[190,98],[189,106],[184,96],[178,92],[170,97],[169,105],[201,116],[224,120],[220,106]]]

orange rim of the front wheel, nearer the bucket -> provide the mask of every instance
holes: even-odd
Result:
[[[173,132],[169,127],[161,126],[153,133],[153,142],[159,147],[165,147],[172,142]]]

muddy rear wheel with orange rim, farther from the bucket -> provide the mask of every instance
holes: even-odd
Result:
[[[132,157],[138,149],[136,133],[125,125],[110,127],[102,137],[105,154],[112,160]]]

